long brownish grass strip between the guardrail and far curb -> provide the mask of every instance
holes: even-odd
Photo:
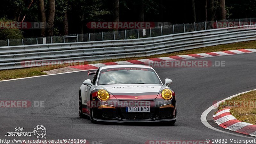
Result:
[[[139,60],[139,59],[167,57],[167,56],[175,56],[175,55],[186,55],[186,54],[205,53],[205,52],[237,50],[237,49],[244,49],[244,48],[247,48],[247,49],[256,48],[256,41],[216,45],[216,46],[197,48],[197,49],[180,51],[180,52],[152,55],[152,56],[148,56],[148,57],[132,57],[132,58],[123,58],[123,59],[89,61],[88,63],[93,64],[93,63],[104,63],[104,62],[114,62],[114,61],[123,61],[123,60]],[[44,73],[44,71],[48,71],[48,70],[52,70],[52,69],[56,69],[56,68],[62,68],[62,67],[65,67],[65,66],[58,65],[58,66],[44,66],[44,67],[35,67],[35,68],[1,70],[0,71],[0,80],[46,75],[46,73]]]

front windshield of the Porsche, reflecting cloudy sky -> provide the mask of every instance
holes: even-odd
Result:
[[[148,68],[109,68],[100,71],[98,85],[161,84],[155,71]]]

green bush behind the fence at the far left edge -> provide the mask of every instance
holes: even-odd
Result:
[[[12,22],[12,20],[7,20],[5,18],[1,18],[0,22]],[[0,29],[0,40],[1,39],[21,39],[22,31],[20,29]]]

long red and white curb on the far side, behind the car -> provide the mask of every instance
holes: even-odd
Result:
[[[115,61],[115,62],[107,62],[107,63],[77,65],[77,66],[69,66],[69,67],[65,67],[65,68],[59,68],[59,69],[54,69],[54,70],[50,70],[50,71],[45,71],[45,73],[57,74],[57,73],[73,72],[73,71],[81,71],[81,70],[92,70],[92,69],[98,69],[100,66],[118,65],[118,64],[142,64],[142,65],[144,64],[145,65],[145,64],[149,64],[149,63],[153,64],[153,63],[157,63],[157,62],[190,60],[190,59],[196,59],[196,58],[206,58],[206,57],[250,53],[250,52],[256,52],[256,49],[240,49],[240,50],[230,50],[230,51],[222,51],[222,52],[206,52],[206,53],[177,55],[177,56],[161,57],[161,58],[149,58],[149,59],[141,59],[141,60],[127,60],[127,61]]]

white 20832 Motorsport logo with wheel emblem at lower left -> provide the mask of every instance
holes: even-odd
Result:
[[[23,127],[16,127],[14,131],[18,132],[7,132],[5,136],[31,136],[34,133],[37,138],[41,139],[46,135],[46,128],[43,125],[37,125],[33,132],[21,132]]]

